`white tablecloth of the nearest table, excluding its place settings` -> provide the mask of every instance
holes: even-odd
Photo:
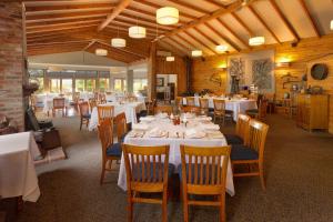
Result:
[[[153,125],[162,125],[161,129],[167,130],[169,133],[174,131],[185,131],[186,128],[183,125],[172,125],[168,122],[158,122],[152,123]],[[132,145],[170,145],[170,153],[169,153],[169,163],[174,164],[178,167],[181,164],[181,153],[180,153],[180,145],[195,145],[195,147],[223,147],[226,145],[226,141],[224,138],[222,139],[211,139],[211,138],[202,138],[202,139],[186,139],[186,138],[150,138],[144,134],[143,138],[130,138],[125,137],[124,143],[132,144]],[[175,168],[176,169],[176,168]],[[119,170],[119,178],[118,178],[118,185],[122,190],[127,190],[127,173],[124,167],[124,159],[123,155],[121,158],[120,170]],[[226,192],[230,195],[234,195],[234,185],[233,185],[233,174],[231,169],[231,162],[228,163],[228,171],[226,171]]]

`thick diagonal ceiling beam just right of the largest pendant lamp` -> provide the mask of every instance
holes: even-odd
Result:
[[[251,3],[255,2],[255,1],[258,1],[258,0],[249,0],[248,6],[251,6]],[[199,19],[195,19],[195,20],[186,23],[185,26],[182,26],[178,29],[172,30],[171,32],[161,36],[160,39],[171,37],[171,36],[176,34],[179,32],[183,32],[183,31],[185,31],[188,29],[191,29],[193,27],[198,27],[199,24],[202,24],[202,23],[205,23],[205,22],[211,21],[213,19],[216,19],[216,18],[219,18],[219,17],[225,14],[225,13],[233,12],[236,9],[241,8],[241,7],[242,7],[242,1],[238,0],[236,2],[231,3],[225,8],[220,8],[219,10],[215,10],[212,13],[205,14],[205,16],[199,18]]]

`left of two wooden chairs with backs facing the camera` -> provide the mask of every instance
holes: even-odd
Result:
[[[133,220],[133,203],[154,203],[162,204],[162,221],[167,222],[168,179],[174,171],[174,165],[169,164],[169,145],[123,144],[122,150],[127,169],[128,221]],[[162,193],[162,199],[143,198],[141,193]]]

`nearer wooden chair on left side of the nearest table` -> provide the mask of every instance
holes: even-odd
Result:
[[[121,159],[121,144],[113,143],[113,123],[111,119],[104,119],[98,125],[99,138],[102,145],[102,172],[100,184],[104,181],[105,171],[111,171],[112,161]]]

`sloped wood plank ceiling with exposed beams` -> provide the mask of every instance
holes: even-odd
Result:
[[[246,2],[246,3],[244,3]],[[28,56],[109,51],[108,57],[133,62],[149,57],[151,42],[185,56],[200,49],[213,56],[218,44],[229,51],[249,50],[249,38],[264,36],[266,44],[321,37],[333,14],[331,0],[27,0],[24,3]],[[180,10],[175,26],[157,26],[155,10]],[[331,18],[330,18],[331,17]],[[128,36],[131,26],[147,28],[145,39]],[[121,37],[125,48],[112,48]]]

